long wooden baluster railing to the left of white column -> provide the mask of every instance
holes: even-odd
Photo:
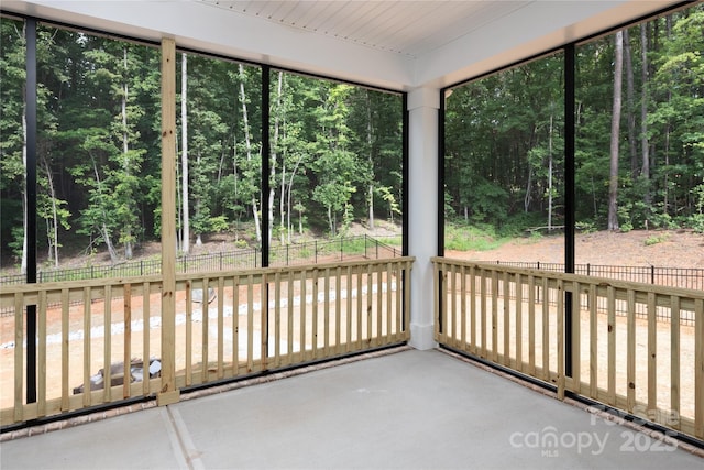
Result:
[[[413,261],[177,275],[168,338],[176,386],[407,341]],[[168,365],[162,291],[160,276],[3,287],[0,306],[14,314],[0,319],[2,426],[157,394]],[[34,403],[25,389],[28,307],[37,319]]]

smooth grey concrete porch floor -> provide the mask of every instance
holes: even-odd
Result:
[[[404,350],[2,442],[6,469],[703,469],[441,351]]]

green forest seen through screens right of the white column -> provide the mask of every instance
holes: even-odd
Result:
[[[563,54],[446,96],[446,216],[564,222]],[[575,220],[704,231],[704,6],[575,47]]]

